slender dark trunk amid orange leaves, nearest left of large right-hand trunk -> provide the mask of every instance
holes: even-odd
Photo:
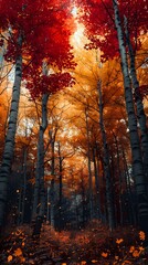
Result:
[[[103,163],[104,163],[104,176],[106,182],[106,203],[107,203],[107,213],[108,213],[108,225],[109,229],[115,229],[115,214],[114,214],[114,204],[113,204],[113,191],[112,191],[112,176],[109,169],[109,151],[108,145],[106,139],[106,131],[104,127],[104,117],[103,117],[103,98],[102,98],[102,87],[101,82],[97,84],[98,91],[98,99],[99,99],[99,126],[102,132],[102,140],[104,147],[104,156],[103,156]]]

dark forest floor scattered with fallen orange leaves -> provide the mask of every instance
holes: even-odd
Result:
[[[101,223],[85,230],[56,232],[43,224],[40,237],[29,225],[13,227],[0,242],[0,265],[148,264],[145,234],[133,227],[113,233]]]

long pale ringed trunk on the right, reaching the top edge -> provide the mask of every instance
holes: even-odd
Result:
[[[115,11],[115,25],[117,30],[119,52],[121,59],[121,71],[124,77],[124,87],[125,87],[125,100],[126,109],[128,115],[128,126],[129,126],[129,136],[130,136],[130,146],[133,155],[133,173],[135,178],[136,192],[138,199],[138,219],[139,226],[148,235],[148,197],[146,192],[146,181],[144,173],[142,156],[140,150],[140,141],[138,136],[137,128],[137,118],[134,108],[131,84],[128,72],[128,63],[126,56],[126,49],[124,43],[124,34],[121,30],[121,22],[119,18],[118,3],[117,0],[113,0],[113,7]]]

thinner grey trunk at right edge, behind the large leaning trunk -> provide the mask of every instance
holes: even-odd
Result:
[[[146,183],[147,183],[147,190],[148,190],[148,128],[146,125],[146,114],[144,110],[142,97],[140,95],[139,82],[138,82],[137,73],[136,73],[135,53],[134,53],[133,45],[130,42],[130,36],[129,36],[129,31],[128,31],[128,21],[127,21],[126,17],[125,17],[125,33],[126,33],[128,52],[129,52],[130,76],[131,76],[131,82],[133,82],[134,93],[135,93],[137,118],[138,118],[139,126],[140,126],[144,169],[145,169]]]

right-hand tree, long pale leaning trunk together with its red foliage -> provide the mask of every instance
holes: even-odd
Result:
[[[86,33],[91,43],[86,44],[85,47],[99,47],[104,54],[103,59],[117,56],[118,47],[121,61],[121,72],[124,78],[125,88],[125,102],[128,115],[128,126],[130,135],[130,146],[133,152],[133,172],[136,181],[136,190],[138,195],[138,216],[139,225],[145,232],[147,231],[148,221],[148,199],[146,194],[146,181],[142,169],[142,156],[140,149],[140,141],[137,128],[137,117],[135,114],[135,104],[131,92],[131,82],[129,76],[125,35],[123,31],[123,19],[127,17],[128,26],[130,29],[131,42],[135,41],[135,50],[138,44],[140,45],[141,29],[145,31],[146,24],[144,19],[146,18],[147,8],[145,1],[78,1],[82,12],[80,12],[81,21],[86,26]],[[97,14],[101,15],[97,15]],[[106,17],[108,20],[106,20]],[[106,22],[107,21],[107,22]],[[117,30],[117,35],[116,31]],[[135,39],[136,34],[136,39]],[[102,38],[101,38],[102,36]],[[108,49],[110,43],[110,49]],[[113,45],[114,43],[114,45]]]

